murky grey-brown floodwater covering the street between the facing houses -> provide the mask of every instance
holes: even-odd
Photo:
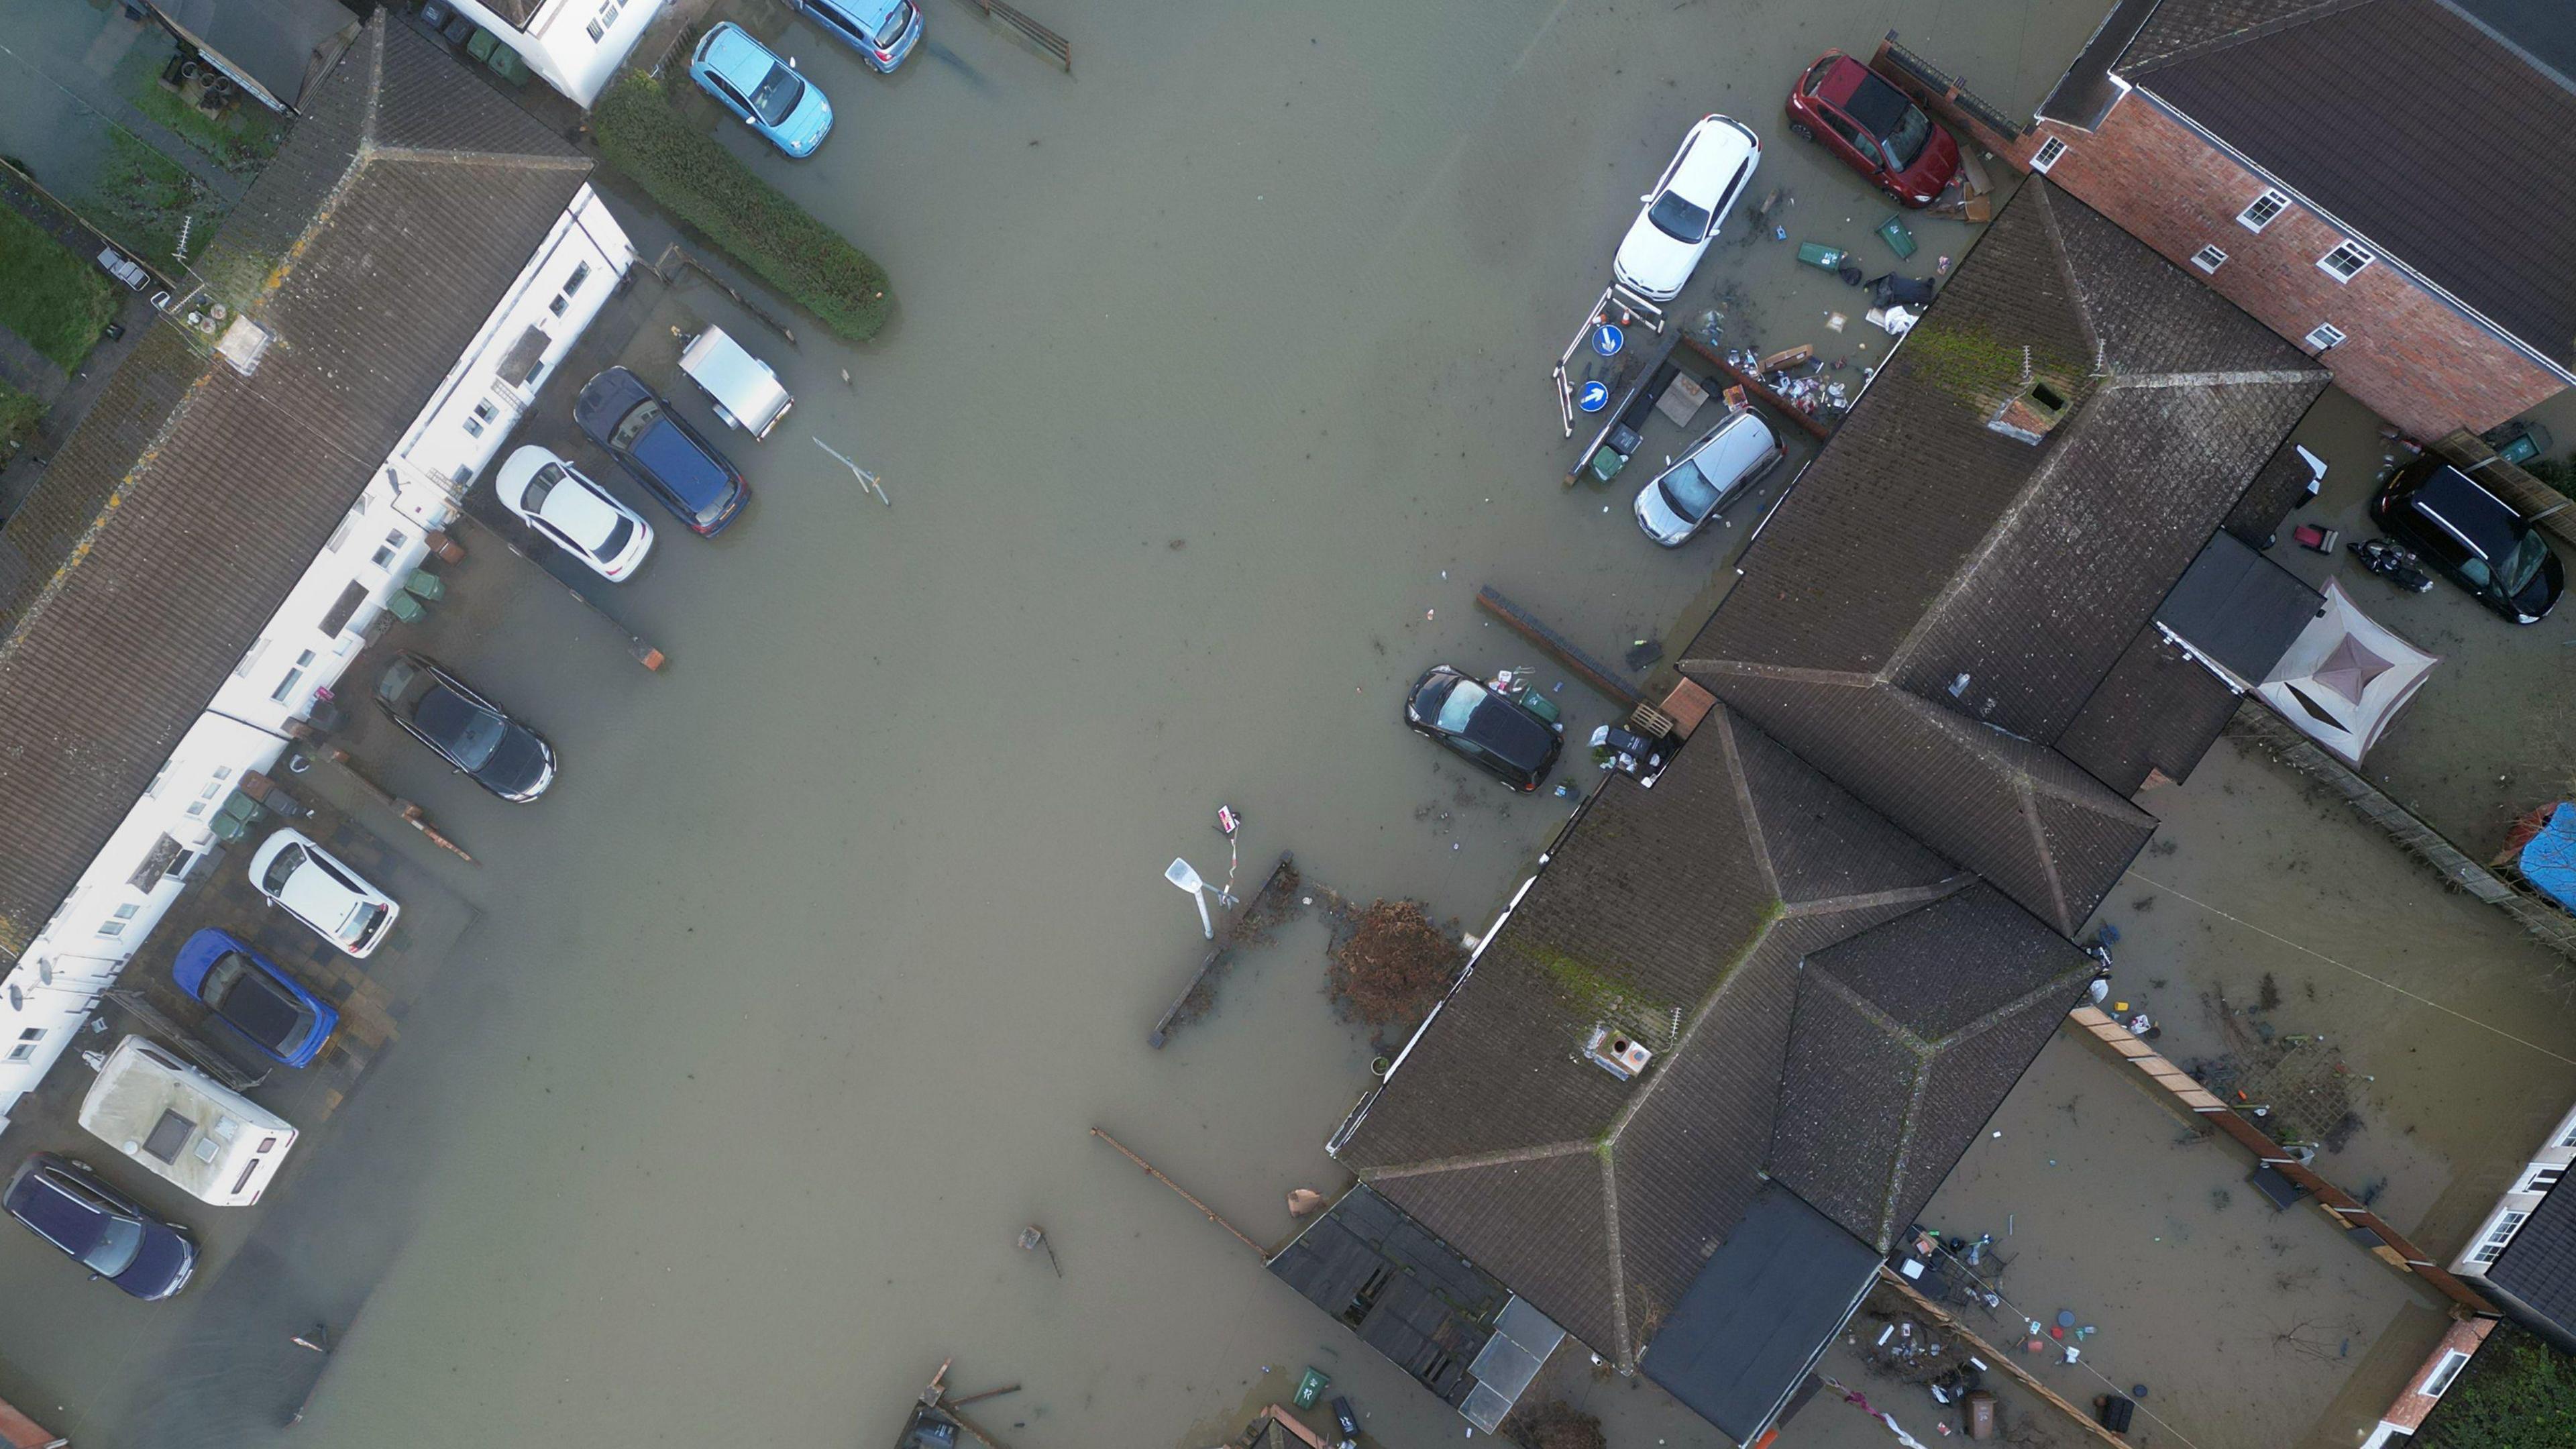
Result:
[[[1798,67],[1899,26],[2027,106],[2105,8],[1103,0],[1041,13],[1072,80],[963,5],[891,80],[793,31],[840,126],[760,165],[886,263],[896,325],[757,335],[801,405],[734,449],[755,511],[613,596],[662,676],[546,588],[461,606],[489,627],[451,663],[556,740],[559,786],[513,810],[368,761],[484,859],[420,853],[479,923],[214,1284],[13,1336],[31,1408],[273,1441],[242,1405],[301,1379],[222,1366],[301,1312],[340,1336],[307,1446],[871,1444],[951,1354],[966,1390],[1025,1385],[979,1410],[1020,1446],[1213,1444],[1303,1364],[1386,1444],[1458,1436],[1090,1137],[1257,1240],[1340,1186],[1321,1140],[1373,1049],[1319,995],[1321,928],[1149,1052],[1198,957],[1162,869],[1224,874],[1224,802],[1247,882],[1288,848],[1489,918],[1566,807],[1445,766],[1401,688],[1538,663],[1481,583],[1615,657],[1718,557],[1558,485],[1546,364],[1636,193],[1723,108],[1793,240],[1875,248],[1886,204],[1780,131]],[[1965,242],[1917,232],[1917,273]],[[1826,345],[1839,307],[1855,366],[1883,356],[1857,294],[1739,235],[1677,315],[1734,281],[1728,343]],[[1564,701],[1569,732],[1605,717]],[[1012,1248],[1033,1222],[1061,1279]]]

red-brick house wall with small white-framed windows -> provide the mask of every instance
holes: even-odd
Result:
[[[2334,382],[2416,438],[2491,428],[2566,387],[2385,260],[2352,281],[2321,271],[2316,258],[2347,235],[2298,201],[2259,235],[2241,227],[2236,214],[2264,180],[2146,95],[2120,98],[2092,134],[2040,121],[2007,160],[2027,168],[2050,134],[2066,152],[2048,180],[2195,276],[2200,248],[2226,250],[2202,278],[2282,338],[2342,327],[2344,343],[2324,356]]]

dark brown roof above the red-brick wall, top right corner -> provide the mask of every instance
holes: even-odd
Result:
[[[2184,5],[2236,8],[2285,13],[2192,44],[2151,23],[2123,77],[2576,366],[2576,85],[2439,0]]]

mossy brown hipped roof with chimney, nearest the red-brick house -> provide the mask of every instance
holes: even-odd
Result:
[[[1986,428],[2022,358],[2081,379],[2038,446]],[[2141,668],[2102,688],[2324,387],[2032,178],[1770,518],[1682,670],[2071,936],[2154,820],[2056,745],[2079,724],[2136,740],[2166,704]]]

